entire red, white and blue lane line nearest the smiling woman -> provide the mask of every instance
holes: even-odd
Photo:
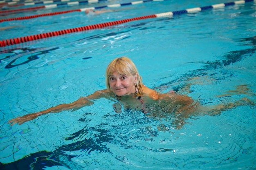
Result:
[[[200,12],[200,11],[207,10],[207,9],[218,9],[218,8],[223,8],[223,7],[230,6],[230,5],[244,4],[246,2],[253,2],[253,1],[256,1],[256,0],[239,0],[239,1],[234,1],[234,2],[222,3],[222,4],[213,4],[213,5],[205,6],[205,7],[196,7],[196,8],[190,8],[190,9],[185,9],[185,10],[180,10],[180,11],[146,15],[146,16],[142,16],[142,17],[117,20],[117,21],[105,22],[105,23],[101,23],[101,24],[94,24],[94,25],[88,25],[88,26],[81,26],[81,27],[65,29],[65,30],[61,30],[61,31],[53,31],[53,32],[41,33],[41,34],[37,34],[37,35],[29,35],[29,36],[20,37],[20,38],[0,40],[0,47],[10,46],[10,45],[14,45],[14,44],[20,44],[20,43],[39,40],[39,39],[43,39],[43,38],[54,37],[54,36],[58,36],[58,35],[64,35],[64,34],[68,34],[68,33],[74,33],[74,32],[80,32],[80,31],[86,31],[86,30],[92,30],[92,29],[99,29],[99,28],[104,28],[107,26],[113,26],[113,25],[117,25],[117,24],[131,22],[131,21],[135,21],[135,20],[143,20],[143,19],[148,19],[148,18],[173,17],[173,15],[180,15],[180,14],[184,14],[184,13],[196,13],[196,12]]]

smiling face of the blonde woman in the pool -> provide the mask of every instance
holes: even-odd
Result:
[[[119,74],[116,71],[108,77],[110,89],[118,96],[130,95],[135,93],[136,75]]]

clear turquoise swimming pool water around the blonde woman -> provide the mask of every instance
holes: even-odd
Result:
[[[127,2],[62,6],[1,19]],[[72,12],[1,22],[9,29],[0,31],[0,40],[226,2],[165,0],[100,15]],[[1,47],[1,169],[255,169],[255,17],[255,2],[247,2]],[[144,84],[161,93],[174,90],[209,107],[244,104],[216,116],[181,119],[129,109],[117,114],[115,102],[98,99],[74,112],[7,124],[106,88],[106,67],[120,56],[130,57]],[[184,125],[177,128],[176,120]]]

